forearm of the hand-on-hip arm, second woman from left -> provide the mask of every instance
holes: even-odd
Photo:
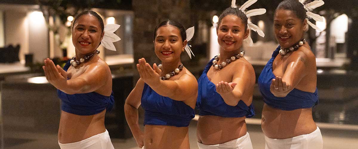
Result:
[[[124,105],[124,113],[126,116],[127,123],[129,128],[132,131],[134,137],[138,136],[141,133],[138,123],[138,109],[129,104]]]

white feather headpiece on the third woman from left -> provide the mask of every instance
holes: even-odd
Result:
[[[244,3],[239,10],[241,10],[243,13],[246,14],[247,18],[250,18],[251,16],[255,16],[255,15],[262,15],[266,13],[266,9],[252,9],[249,11],[245,11],[246,8],[250,7],[252,4],[256,3],[257,0],[248,0],[246,1],[246,3]],[[232,8],[237,8],[236,6],[236,0],[232,0],[231,1],[231,7]],[[260,35],[261,37],[265,37],[265,34],[263,33],[263,31],[256,26],[255,24],[251,23],[251,22],[247,22],[247,28],[253,31],[256,31],[258,35]],[[248,35],[248,37],[245,39],[245,41],[249,44],[249,46],[253,45],[253,41],[251,39],[250,34]]]

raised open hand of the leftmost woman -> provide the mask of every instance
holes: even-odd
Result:
[[[45,72],[46,79],[50,84],[55,86],[57,89],[62,89],[66,87],[67,84],[67,73],[64,71],[61,66],[53,63],[49,58],[44,60],[45,66],[42,66],[42,69]]]

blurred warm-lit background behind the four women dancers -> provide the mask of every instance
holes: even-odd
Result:
[[[321,129],[324,149],[357,149],[358,7],[355,0],[324,1],[314,10],[324,22],[311,20],[323,31],[310,28],[305,35],[317,63],[319,104],[313,108],[313,117]],[[251,33],[254,45],[242,47],[256,80],[278,46],[273,14],[280,2],[258,0],[248,8],[267,10],[250,18],[265,38]],[[105,123],[116,149],[135,149],[123,106],[139,78],[134,67],[137,59],[160,62],[154,53],[154,28],[167,19],[177,20],[185,28],[195,26],[189,41],[195,57],[190,60],[184,53],[182,62],[199,78],[208,60],[219,53],[216,25],[229,6],[231,0],[0,0],[0,149],[59,149],[61,101],[41,67],[45,58],[63,66],[74,56],[70,26],[75,14],[91,9],[101,13],[105,24],[121,25],[115,32],[122,39],[114,43],[117,51],[98,48],[110,65],[115,93],[115,108],[106,114]],[[248,132],[254,149],[262,149],[263,100],[257,87],[253,104],[256,115],[247,119]],[[143,123],[143,110],[139,110]],[[189,126],[194,149],[198,148],[196,120]]]

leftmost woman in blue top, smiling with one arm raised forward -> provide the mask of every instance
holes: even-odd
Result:
[[[72,25],[76,55],[63,69],[44,60],[46,78],[62,100],[61,149],[114,149],[104,124],[105,113],[114,103],[111,71],[97,50],[103,30],[103,20],[95,11],[78,14]]]

